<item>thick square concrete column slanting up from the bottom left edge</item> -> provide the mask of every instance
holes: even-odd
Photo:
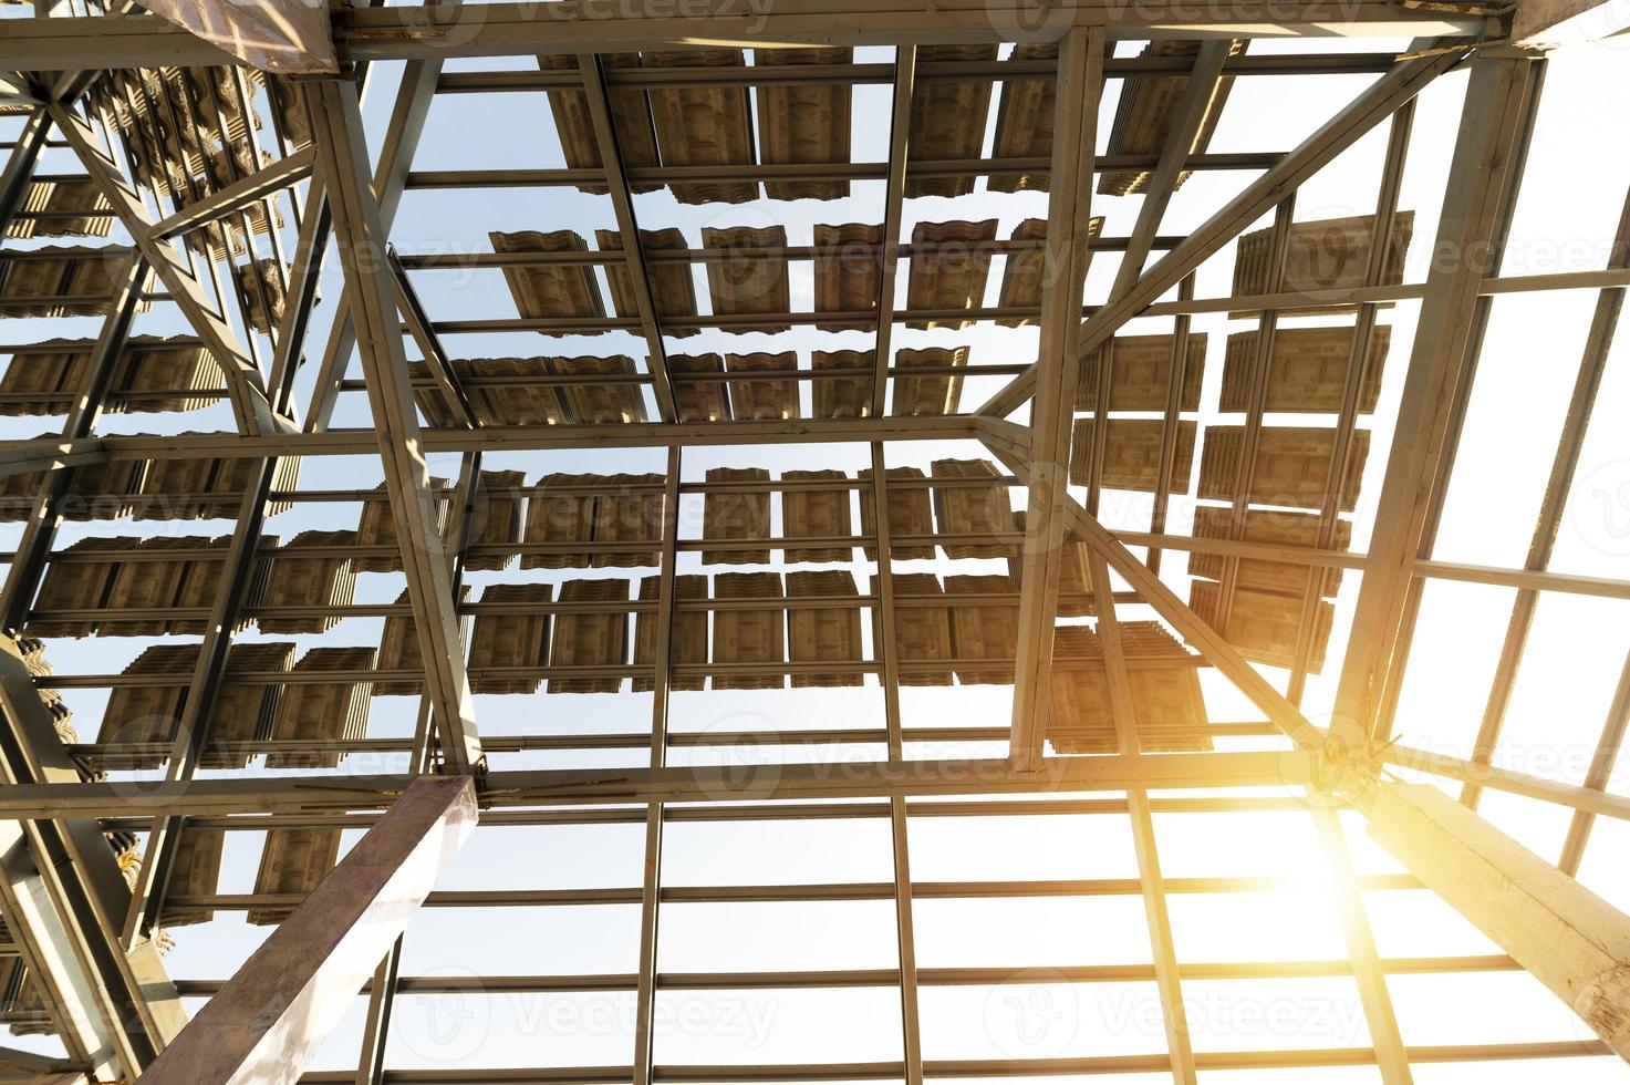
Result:
[[[437,875],[476,830],[476,816],[468,777],[427,777],[403,791],[142,1080],[298,1082]]]

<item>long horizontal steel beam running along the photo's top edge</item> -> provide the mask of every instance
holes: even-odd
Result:
[[[663,0],[608,8],[593,0],[469,8],[357,8],[334,21],[342,62],[429,57],[631,52],[717,46],[898,46],[914,41],[988,42],[1035,33],[1025,0],[782,0],[755,10],[734,0],[688,5]],[[1253,3],[1193,8],[1175,0],[1128,7],[1112,0],[1051,5],[1046,28],[1105,26],[1112,39],[1284,38],[1299,31],[1345,38],[1480,34],[1483,16],[1415,8],[1394,0],[1302,0],[1263,10]],[[152,16],[10,20],[0,70],[130,69],[233,64],[225,49]]]

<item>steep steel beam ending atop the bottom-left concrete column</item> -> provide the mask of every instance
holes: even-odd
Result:
[[[357,328],[368,401],[385,465],[385,488],[401,538],[408,597],[425,661],[425,692],[435,706],[442,754],[456,772],[482,765],[452,574],[429,494],[419,418],[408,383],[408,357],[396,320],[396,289],[385,258],[385,228],[373,199],[357,88],[346,82],[308,85],[318,163],[334,214],[346,294]],[[479,432],[479,431],[476,431]]]

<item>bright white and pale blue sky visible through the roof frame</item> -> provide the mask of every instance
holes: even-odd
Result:
[[[1392,42],[1403,47],[1405,42]],[[1341,49],[1345,42],[1255,42],[1253,52]],[[1126,52],[1131,46],[1121,46]],[[1529,181],[1518,207],[1506,274],[1602,268],[1607,240],[1630,178],[1630,144],[1610,135],[1630,114],[1630,80],[1625,51],[1581,49],[1558,54],[1550,65],[1545,100],[1529,158]],[[857,51],[857,60],[888,60],[888,49]],[[525,67],[517,59],[456,62],[452,69]],[[380,65],[370,88],[367,117],[373,145],[390,113],[398,70]],[[1302,77],[1237,80],[1222,116],[1214,152],[1283,150],[1314,131],[1372,77]],[[1434,235],[1449,150],[1464,95],[1465,75],[1456,73],[1428,88],[1420,101],[1400,207],[1415,210],[1415,245],[1407,281],[1425,276],[1428,240]],[[1099,139],[1107,139],[1118,82],[1112,82],[1100,109]],[[859,86],[854,91],[852,157],[875,162],[887,155],[888,90]],[[991,109],[994,124],[996,109]],[[10,126],[15,127],[15,122]],[[7,131],[10,131],[10,127]],[[986,134],[986,147],[989,145]],[[1306,184],[1297,199],[1297,219],[1369,214],[1381,173],[1386,131],[1377,129],[1330,168]],[[416,160],[419,170],[505,168],[564,165],[553,135],[543,95],[460,95],[437,100]],[[67,171],[64,152],[52,152],[46,171]],[[1172,201],[1162,233],[1177,233],[1203,222],[1250,175],[1198,173]],[[998,237],[1007,237],[1019,220],[1045,215],[1038,194],[988,194],[980,191],[944,201],[906,204],[905,230],[916,222],[999,217]],[[882,219],[883,184],[857,181],[852,194],[833,202],[755,202],[742,206],[681,206],[665,191],[637,197],[641,222],[650,228],[678,225],[693,245],[704,225],[771,225],[787,230],[789,243],[810,241],[815,224],[877,222]],[[1094,197],[1092,212],[1107,215],[1105,233],[1126,233],[1138,214],[1138,197]],[[411,193],[393,240],[404,253],[486,251],[487,230],[554,230],[570,227],[584,237],[595,228],[615,228],[611,204],[603,196],[575,189],[494,189]],[[333,263],[333,261],[331,261]],[[698,268],[698,299],[707,292]],[[1102,300],[1115,272],[1115,258],[1100,256],[1089,279],[1089,302]],[[812,305],[808,264],[792,264],[792,305]],[[1232,246],[1205,264],[1198,276],[1200,297],[1226,295],[1232,274]],[[901,276],[903,279],[905,276]],[[437,318],[513,315],[513,303],[497,271],[422,272],[416,279],[429,312]],[[989,297],[1001,282],[993,268]],[[903,299],[903,284],[901,284]],[[341,294],[337,271],[329,269],[313,343],[321,344]],[[1493,308],[1488,341],[1478,369],[1472,411],[1449,494],[1438,555],[1454,561],[1521,565],[1532,530],[1550,452],[1579,361],[1593,290],[1547,292],[1529,297],[1503,295]],[[1384,315],[1394,328],[1394,348],[1374,416],[1374,442],[1358,511],[1355,548],[1363,548],[1379,493],[1390,418],[1408,361],[1408,338],[1416,305],[1399,303]],[[1324,318],[1328,323],[1328,318]],[[1317,323],[1302,318],[1301,323]],[[1134,321],[1126,331],[1157,333],[1167,320]],[[1201,426],[1218,421],[1222,346],[1227,333],[1249,325],[1222,315],[1195,318],[1193,331],[1209,334],[1203,388]],[[55,334],[93,336],[91,320],[7,321],[3,339],[26,343]],[[179,317],[158,307],[139,321],[140,333],[178,333]],[[967,331],[910,331],[896,328],[895,346],[973,348],[971,361],[1030,361],[1035,330],[978,326]],[[756,349],[867,348],[862,333],[794,330],[782,336],[704,331],[670,341],[685,352]],[[321,348],[313,348],[319,351]],[[455,356],[504,354],[616,354],[642,356],[642,343],[629,333],[567,339],[540,339],[513,333],[448,339]],[[1570,516],[1553,561],[1555,569],[1623,578],[1630,553],[1630,436],[1619,424],[1630,408],[1630,338],[1620,336],[1602,385],[1579,480],[1570,498]],[[315,369],[313,367],[308,367]],[[359,375],[354,369],[352,375]],[[303,374],[297,401],[305,403],[313,380]],[[963,410],[981,403],[998,383],[970,380]],[[807,395],[807,392],[805,392]],[[808,400],[805,398],[805,403]],[[654,411],[652,411],[654,413]],[[1234,421],[1234,419],[1229,419]],[[336,426],[367,424],[360,395],[342,398]],[[31,437],[54,426],[49,419],[5,419],[3,437]],[[225,405],[184,419],[153,414],[116,414],[104,432],[166,432],[176,429],[230,427]],[[166,429],[168,427],[168,429]],[[927,468],[945,455],[980,457],[973,444],[905,444],[890,449],[890,463]],[[1198,457],[1196,457],[1198,460]],[[836,467],[846,472],[869,465],[864,445],[725,447],[688,450],[685,478],[701,480],[709,467],[786,468]],[[456,457],[432,465],[434,473],[456,475]],[[489,455],[487,470],[520,468],[535,480],[548,472],[662,472],[662,450],[606,450],[582,454]],[[306,463],[306,486],[372,486],[380,480],[377,460],[324,460]],[[1022,491],[1014,491],[1022,501]],[[688,498],[681,509],[691,535],[699,534],[701,499]],[[694,506],[694,507],[691,507]],[[1112,527],[1144,530],[1148,499],[1141,494],[1105,494],[1105,520]],[[271,530],[290,537],[303,529],[347,529],[357,507],[315,504],[284,512]],[[1187,530],[1188,499],[1172,503],[1170,530]],[[119,522],[116,525],[65,525],[59,545],[86,534],[227,534],[230,525]],[[3,530],[5,547],[15,545],[15,525]],[[900,571],[952,571],[949,563],[900,563]],[[699,555],[681,555],[681,573],[701,571]],[[870,571],[854,566],[857,581]],[[1004,565],[962,563],[954,571],[1006,571]],[[559,582],[595,574],[641,576],[649,571],[518,571],[471,574],[473,584],[497,581]],[[1180,555],[1169,555],[1162,573],[1183,592],[1187,576]],[[1330,658],[1340,659],[1345,623],[1351,615],[1358,578],[1345,578],[1338,600],[1337,636]],[[399,574],[363,574],[359,602],[390,602],[401,591]],[[1470,752],[1485,692],[1506,625],[1513,591],[1467,584],[1434,584],[1426,594],[1408,685],[1399,711],[1403,741],[1459,755]],[[1141,607],[1123,607],[1123,620],[1152,617]],[[1589,597],[1545,597],[1539,607],[1527,661],[1519,674],[1500,764],[1578,780],[1596,742],[1614,684],[1630,649],[1622,604]],[[375,644],[380,620],[349,618],[326,636],[300,636],[302,651],[316,643]],[[249,631],[244,640],[258,640]],[[287,638],[284,638],[287,640]],[[52,643],[51,661],[59,672],[114,672],[134,659],[150,640],[90,640]],[[1283,672],[1270,669],[1283,680]],[[1333,700],[1338,667],[1332,662],[1309,684],[1306,706],[1319,721]],[[905,690],[905,724],[1001,726],[1009,716],[1006,687],[955,687]],[[1206,672],[1208,708],[1214,720],[1260,718],[1221,679]],[[68,695],[75,723],[90,739],[96,731],[104,693],[73,690]],[[375,698],[370,736],[411,734],[416,698]],[[851,690],[709,692],[676,693],[672,702],[673,731],[807,729],[880,726],[882,695],[872,687]],[[570,734],[577,731],[631,731],[649,728],[650,697],[616,693],[590,697],[479,697],[478,715],[486,734]],[[1260,739],[1219,746],[1262,747]],[[1267,742],[1267,746],[1273,746]],[[999,755],[989,744],[955,747],[913,744],[913,757]],[[1584,751],[1581,757],[1581,751]],[[680,749],[673,764],[707,755],[755,759],[766,751],[693,754]],[[818,751],[769,751],[789,759],[879,759],[877,746]],[[494,755],[496,768],[642,765],[644,751],[593,751],[577,754]],[[1542,759],[1555,764],[1545,767]],[[344,772],[399,770],[401,757],[360,755]],[[264,770],[264,768],[258,768]],[[1617,785],[1622,788],[1622,778]],[[1553,858],[1566,830],[1566,816],[1550,808],[1498,793],[1483,801],[1483,813],[1529,847]],[[1332,959],[1345,946],[1337,920],[1335,886],[1322,876],[1312,819],[1306,813],[1255,814],[1159,814],[1157,837],[1167,878],[1288,876],[1288,892],[1177,892],[1170,914],[1178,958],[1183,963]],[[347,842],[355,834],[349,834]],[[1348,824],[1348,839],[1361,873],[1399,868],[1368,844],[1361,824]],[[1583,879],[1620,907],[1630,907],[1630,875],[1615,861],[1630,845],[1630,830],[1619,822],[1596,829],[1586,853]],[[228,835],[222,892],[249,892],[254,884],[261,835]],[[628,888],[641,883],[642,824],[482,827],[442,879],[442,889],[543,889]],[[1136,861],[1126,821],[1120,816],[1048,817],[918,817],[911,822],[911,866],[918,883],[1035,881],[1079,878],[1136,878]],[[892,878],[888,824],[866,821],[795,821],[738,824],[673,824],[667,829],[663,879],[670,886],[758,886],[804,883],[879,883]],[[1459,956],[1498,950],[1421,891],[1371,891],[1371,922],[1384,958]],[[637,906],[577,906],[487,909],[427,909],[416,920],[403,963],[404,976],[525,976],[525,974],[624,974],[636,968]],[[914,906],[918,964],[932,968],[1014,969],[996,985],[934,985],[921,992],[923,1052],[929,1061],[1149,1054],[1164,1049],[1159,1000],[1152,984],[1104,982],[1069,985],[1048,969],[1079,964],[1148,964],[1151,961],[1143,904],[1138,896],[927,899]],[[220,979],[259,945],[267,928],[248,927],[241,912],[222,912],[204,927],[176,932],[170,968],[176,977]],[[771,902],[771,904],[668,904],[662,909],[659,968],[663,972],[887,969],[896,959],[895,917],[888,901]],[[1518,1043],[1586,1038],[1566,1008],[1522,972],[1467,976],[1392,976],[1389,990],[1408,1044]],[[1252,1051],[1267,1047],[1366,1046],[1368,1028],[1350,977],[1271,981],[1187,981],[1183,984],[1190,1030],[1196,1051]],[[893,987],[665,992],[659,1005],[657,1059],[662,1064],[787,1064],[869,1062],[900,1059],[898,992]],[[396,1003],[391,1030],[393,1067],[435,1069],[525,1065],[626,1065],[632,1051],[632,1005],[628,994],[491,994],[486,997],[404,995]],[[318,1069],[355,1064],[360,1036],[357,1012],[336,1031]],[[52,1041],[20,1038],[16,1046],[52,1049]],[[1421,1085],[1462,1082],[1504,1083],[1565,1080],[1581,1085],[1627,1080],[1615,1059],[1568,1059],[1557,1064],[1434,1064],[1415,1070]],[[1346,1085],[1379,1082],[1372,1067],[1317,1070],[1206,1072],[1208,1085],[1289,1085],[1315,1082]],[[1170,1080],[1167,1074],[1123,1075],[1128,1085]]]

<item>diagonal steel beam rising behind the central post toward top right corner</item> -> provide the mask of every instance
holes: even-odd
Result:
[[[1358,98],[1309,135],[1296,150],[1284,155],[1278,165],[1247,184],[1245,191],[1229,201],[1222,210],[1206,219],[1182,245],[1167,253],[1154,268],[1148,269],[1138,279],[1136,286],[1118,302],[1105,305],[1094,313],[1082,326],[1079,336],[1077,346],[1081,354],[1087,356],[1108,341],[1121,325],[1141,315],[1188,272],[1216,255],[1242,230],[1267,214],[1268,209],[1294,193],[1302,181],[1356,144],[1376,124],[1392,116],[1399,106],[1415,98],[1421,88],[1459,64],[1462,55],[1464,52],[1460,51],[1449,51],[1405,60],[1364,88]],[[1237,308],[1237,303],[1231,303],[1229,307]],[[1035,382],[1037,370],[1032,367],[1025,375],[991,396],[978,413],[996,418],[1012,413],[1032,395]]]

